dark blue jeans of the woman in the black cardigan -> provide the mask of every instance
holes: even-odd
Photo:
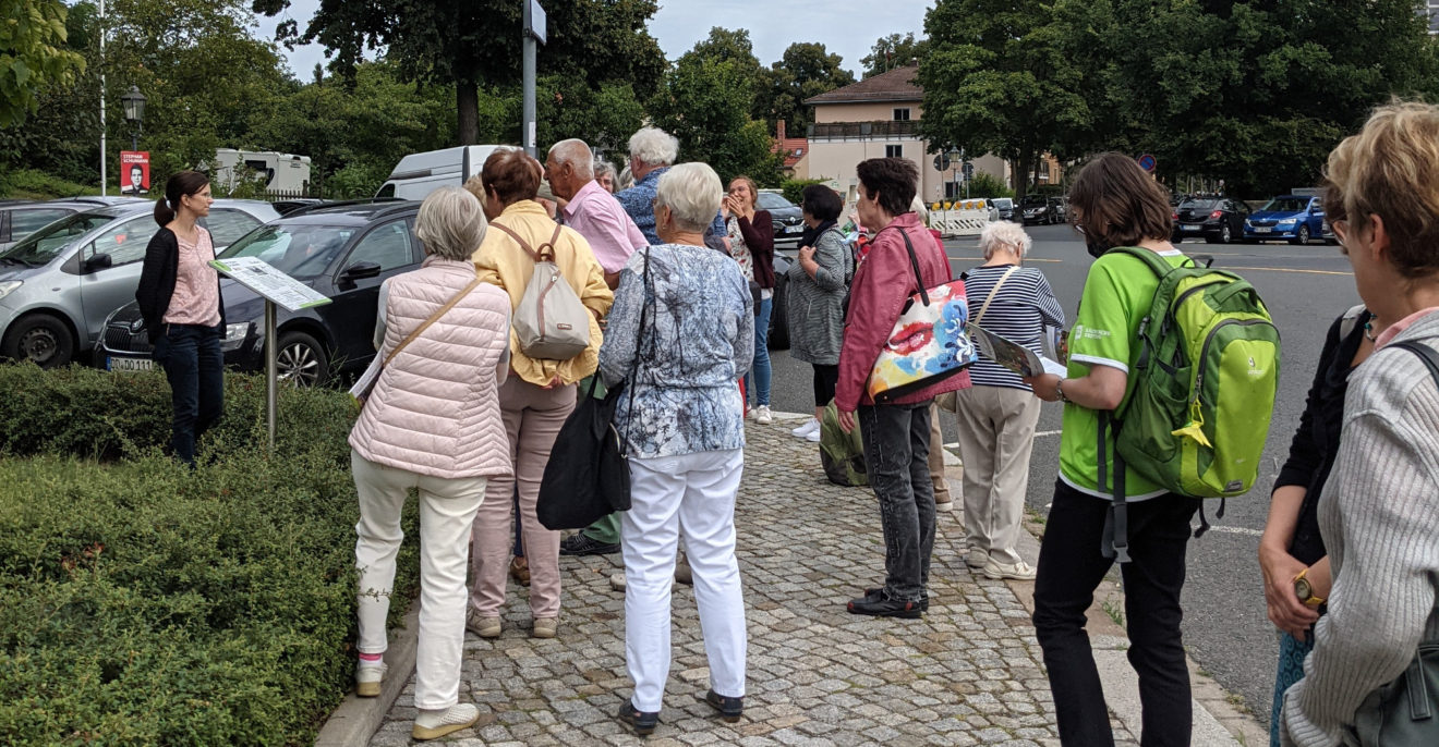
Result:
[[[170,450],[194,467],[194,442],[224,414],[224,353],[220,328],[164,325],[151,356],[170,381]]]

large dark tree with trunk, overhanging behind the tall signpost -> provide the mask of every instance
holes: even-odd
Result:
[[[253,0],[256,11],[276,14],[289,0]],[[384,47],[406,80],[455,86],[460,144],[479,138],[479,89],[517,88],[521,60],[521,3],[512,0],[321,0],[304,34],[281,24],[289,42],[319,42],[347,79],[367,49]],[[646,22],[655,0],[568,0],[548,9],[548,43],[538,75],[584,80],[593,88],[627,82],[640,98],[658,88],[665,57]]]

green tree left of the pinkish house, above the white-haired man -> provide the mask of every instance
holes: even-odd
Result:
[[[750,119],[745,70],[735,60],[685,55],[650,102],[655,126],[679,138],[681,161],[704,161],[721,180],[747,174],[778,182],[780,158],[764,122]]]

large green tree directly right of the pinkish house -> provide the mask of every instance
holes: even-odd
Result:
[[[1017,165],[1016,192],[1045,151],[1065,154],[1092,128],[1072,65],[1043,0],[938,0],[920,60],[921,135],[931,149],[993,152]]]

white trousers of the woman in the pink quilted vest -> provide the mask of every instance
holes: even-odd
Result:
[[[484,477],[446,480],[397,470],[350,453],[360,494],[355,569],[360,572],[360,652],[389,648],[386,618],[394,588],[394,556],[404,532],[400,510],[410,488],[420,494],[420,641],[414,659],[414,707],[449,708],[459,701],[465,648],[465,569]],[[409,672],[390,672],[389,677]]]

